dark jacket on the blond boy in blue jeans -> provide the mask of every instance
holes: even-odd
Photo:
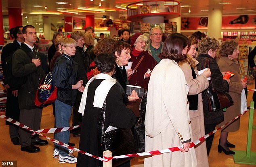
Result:
[[[65,54],[57,58],[52,79],[58,89],[57,99],[68,105],[73,105],[76,101],[77,89],[72,89],[72,85],[77,83],[77,72],[78,64],[73,58]]]

